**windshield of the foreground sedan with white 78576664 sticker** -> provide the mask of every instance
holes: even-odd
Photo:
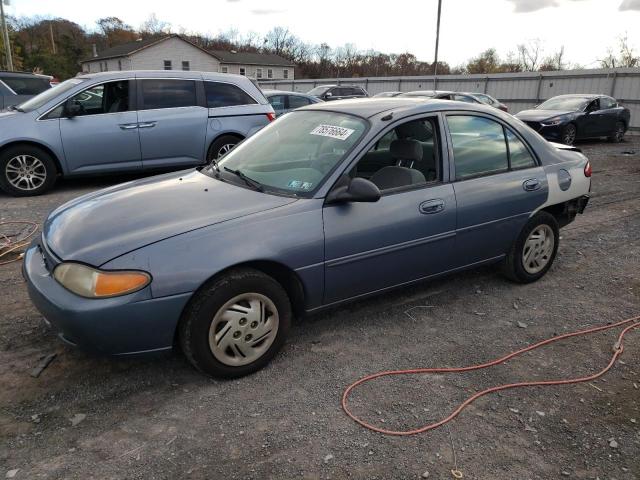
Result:
[[[224,180],[245,186],[231,170],[265,191],[310,197],[367,130],[359,117],[334,112],[291,112],[248,138],[218,163]],[[213,166],[203,170],[215,176]]]

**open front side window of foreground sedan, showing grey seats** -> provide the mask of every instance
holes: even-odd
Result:
[[[436,120],[411,120],[386,132],[358,161],[351,176],[363,177],[380,190],[424,185],[439,178]]]

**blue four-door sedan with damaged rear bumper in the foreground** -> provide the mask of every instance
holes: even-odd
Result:
[[[483,264],[539,279],[590,176],[578,149],[491,107],[319,103],[206,167],[62,205],[24,275],[69,344],[177,344],[201,371],[238,377],[277,353],[294,315]]]

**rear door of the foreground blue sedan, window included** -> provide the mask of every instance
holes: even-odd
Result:
[[[546,202],[547,177],[524,139],[497,119],[449,114],[447,125],[457,266],[497,259]]]

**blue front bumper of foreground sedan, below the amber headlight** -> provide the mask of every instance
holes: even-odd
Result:
[[[40,239],[24,256],[31,301],[61,340],[93,353],[133,355],[169,350],[190,293],[151,298],[149,287],[129,295],[88,299],[60,285],[47,268]]]

